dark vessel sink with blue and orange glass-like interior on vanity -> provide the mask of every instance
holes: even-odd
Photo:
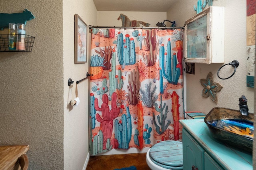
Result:
[[[254,114],[244,116],[239,110],[214,107],[204,118],[212,137],[228,146],[252,152]]]

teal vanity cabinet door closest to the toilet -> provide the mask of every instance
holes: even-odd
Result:
[[[203,170],[204,149],[194,140],[193,137],[183,128],[182,131],[183,147],[183,169],[184,170]]]

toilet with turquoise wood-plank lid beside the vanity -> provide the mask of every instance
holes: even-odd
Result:
[[[152,170],[182,170],[182,142],[162,141],[157,143],[148,150],[146,162]]]

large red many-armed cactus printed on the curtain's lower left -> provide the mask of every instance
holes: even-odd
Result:
[[[111,109],[108,106],[108,95],[103,94],[102,96],[102,105],[99,107],[98,98],[94,101],[94,107],[97,111],[101,111],[102,116],[99,113],[96,114],[96,119],[100,122],[100,127],[102,128],[103,133],[103,149],[106,149],[107,139],[111,139],[113,132],[113,120],[116,119],[119,115],[120,109],[116,106],[116,93],[112,94]]]

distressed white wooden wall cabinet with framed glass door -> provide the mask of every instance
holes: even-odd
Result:
[[[224,7],[210,6],[185,22],[185,62],[224,63]]]

